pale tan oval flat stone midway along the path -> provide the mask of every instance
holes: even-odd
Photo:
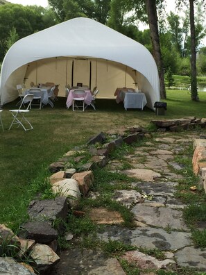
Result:
[[[124,170],[123,174],[126,174],[132,178],[138,178],[141,181],[154,181],[155,178],[160,178],[161,174],[154,172],[150,169],[129,169]]]

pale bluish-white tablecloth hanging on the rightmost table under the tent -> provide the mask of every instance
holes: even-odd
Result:
[[[123,106],[125,110],[128,108],[137,108],[143,110],[146,106],[146,97],[143,92],[125,92]]]

